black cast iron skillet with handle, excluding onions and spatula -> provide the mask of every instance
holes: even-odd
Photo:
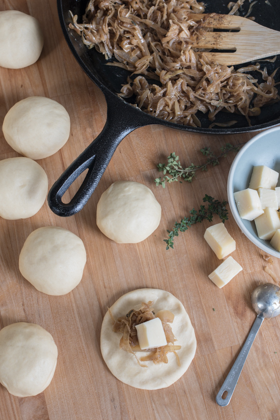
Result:
[[[209,2],[210,5],[206,8],[205,12],[227,14],[228,2],[229,0],[211,0],[211,2]],[[262,130],[280,124],[280,102],[263,108],[260,116],[251,119],[251,127],[248,127],[243,116],[220,112],[218,113],[215,122],[225,123],[234,119],[237,120],[237,124],[235,124],[234,127],[212,129],[208,128],[210,122],[207,115],[203,115],[202,113],[197,114],[202,123],[202,127],[193,128],[160,120],[131,106],[130,103],[133,103],[133,98],[124,100],[117,95],[117,93],[120,92],[122,84],[126,82],[129,73],[119,67],[106,66],[104,56],[101,53],[98,53],[94,48],[88,49],[82,43],[80,36],[78,36],[75,31],[69,29],[69,23],[71,22],[69,10],[71,10],[74,15],[77,14],[78,21],[81,22],[87,3],[88,0],[58,0],[59,18],[64,36],[74,57],[82,69],[105,95],[107,102],[107,121],[100,135],[73,163],[71,163],[58,181],[51,187],[48,194],[48,204],[55,214],[58,214],[59,216],[71,216],[85,206],[119,143],[128,133],[138,127],[149,124],[161,124],[166,127],[176,128],[187,132],[233,134]],[[242,11],[243,16],[249,6],[249,2],[247,1],[246,3],[248,3],[248,5],[246,5],[246,7],[244,6],[244,11]],[[259,3],[261,3],[261,5]],[[269,0],[267,3],[264,1],[258,2],[254,5],[251,15],[256,17],[258,23],[274,30],[280,30],[280,2],[278,0]],[[268,68],[268,73],[271,74],[275,68],[280,66],[280,57],[278,56],[274,63],[262,62],[261,65],[262,68],[266,66]],[[239,67],[242,67],[242,65]],[[260,74],[257,72],[253,75],[254,77],[260,78]],[[276,75],[275,79],[276,81],[280,81],[280,76]],[[86,178],[73,199],[68,204],[63,203],[63,194],[73,181],[87,169],[89,169],[89,171]]]

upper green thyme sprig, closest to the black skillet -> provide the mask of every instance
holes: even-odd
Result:
[[[181,165],[180,161],[179,161],[179,156],[176,156],[176,153],[171,153],[171,155],[169,157],[167,157],[167,164],[165,163],[159,163],[157,165],[158,167],[158,172],[163,172],[164,177],[161,179],[160,178],[156,178],[155,182],[156,185],[162,185],[163,188],[165,188],[165,182],[174,182],[174,181],[178,181],[178,178],[183,178],[185,181],[191,182],[192,178],[195,176],[196,172],[198,170],[201,171],[207,171],[207,166],[208,165],[212,165],[212,166],[216,166],[219,164],[219,159],[221,157],[225,157],[227,156],[227,154],[229,152],[238,152],[241,148],[241,146],[243,146],[244,143],[240,143],[236,146],[231,145],[230,143],[227,143],[225,146],[221,147],[221,154],[216,156],[212,150],[209,147],[205,147],[204,149],[200,149],[200,151],[202,152],[202,154],[204,156],[207,156],[207,161],[202,164],[202,165],[194,165],[193,163],[191,163],[188,167],[186,167],[185,169],[183,168],[183,166]],[[169,175],[165,175],[165,174],[169,174]],[[181,181],[180,181],[181,182]]]

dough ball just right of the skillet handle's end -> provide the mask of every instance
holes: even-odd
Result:
[[[98,228],[117,243],[137,243],[158,227],[161,207],[146,185],[133,181],[114,182],[97,205]]]

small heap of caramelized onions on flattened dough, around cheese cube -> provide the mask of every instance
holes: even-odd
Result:
[[[117,320],[113,317],[110,310],[109,314],[111,319],[113,320],[113,331],[120,332],[123,334],[120,340],[120,349],[127,351],[128,353],[132,353],[138,364],[141,367],[147,368],[146,365],[142,365],[140,361],[150,361],[152,360],[155,364],[157,363],[168,363],[167,353],[173,352],[177,358],[177,364],[180,366],[179,356],[176,350],[180,350],[181,346],[175,346],[174,342],[177,341],[170,323],[174,320],[174,315],[170,311],[159,311],[156,315],[154,313],[154,309],[152,307],[153,302],[150,300],[148,303],[142,302],[140,309],[135,310],[131,309],[126,316],[120,317]],[[136,325],[142,324],[143,322],[150,321],[151,319],[159,318],[162,323],[163,331],[165,334],[167,345],[157,347],[157,348],[150,348],[141,350],[137,338],[137,330],[135,328]],[[136,356],[136,352],[145,351],[148,354],[145,357],[139,359]]]

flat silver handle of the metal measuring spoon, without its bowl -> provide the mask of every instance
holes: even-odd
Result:
[[[253,341],[255,340],[257,332],[259,331],[260,326],[262,325],[263,320],[264,320],[263,315],[259,314],[253,324],[253,327],[251,327],[251,330],[249,332],[247,340],[245,341],[242,347],[242,350],[237,356],[237,359],[235,360],[233,367],[231,368],[225,382],[223,382],[217,394],[216,402],[222,407],[225,407],[226,405],[228,405],[232,398],[233,391],[236,387],[237,381],[243,369],[245,360],[247,358],[251,345],[253,344]],[[224,398],[222,397],[223,395],[224,395]]]

